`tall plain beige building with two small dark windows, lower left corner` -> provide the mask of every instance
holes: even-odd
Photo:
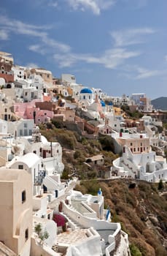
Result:
[[[20,256],[30,255],[32,233],[31,175],[0,169],[0,241]]]

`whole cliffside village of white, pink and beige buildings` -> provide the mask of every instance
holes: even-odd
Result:
[[[144,116],[128,118],[122,106]],[[73,190],[77,178],[61,181],[62,146],[47,141],[39,124],[61,120],[85,138],[108,135],[114,153],[123,154],[104,178],[158,182],[167,180],[165,119],[144,93],[112,97],[77,84],[74,75],[54,78],[46,69],[15,65],[0,52],[0,255],[131,255],[101,189],[82,195]],[[86,160],[104,165],[100,154]]]

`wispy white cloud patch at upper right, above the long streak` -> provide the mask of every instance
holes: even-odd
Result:
[[[153,33],[155,31],[150,28],[125,29],[123,31],[113,31],[111,32],[111,36],[114,39],[114,44],[117,47],[122,47],[144,43],[144,36]]]

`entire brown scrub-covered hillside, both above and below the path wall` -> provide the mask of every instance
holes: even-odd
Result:
[[[101,187],[106,208],[109,207],[113,222],[120,222],[129,235],[131,256],[167,256],[167,194],[160,195],[158,184],[135,181],[129,188],[129,179],[105,180],[103,174],[118,156],[113,153],[112,138],[101,136],[98,140],[80,138],[76,132],[53,124],[40,126],[47,140],[58,141],[63,148],[65,165],[61,178],[77,176],[76,189],[83,194],[96,195]],[[104,165],[85,165],[85,158],[103,154]],[[164,184],[167,191],[167,184]]]

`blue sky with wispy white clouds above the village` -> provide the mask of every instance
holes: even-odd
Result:
[[[0,50],[15,64],[112,96],[167,96],[166,0],[6,0]]]

